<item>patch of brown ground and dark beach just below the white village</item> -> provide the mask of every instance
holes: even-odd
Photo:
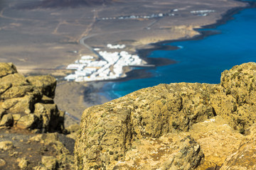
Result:
[[[65,126],[79,124],[85,108],[107,102],[107,98],[100,96],[98,91],[103,82],[82,84],[78,82],[61,81],[55,91],[55,103],[65,111]]]

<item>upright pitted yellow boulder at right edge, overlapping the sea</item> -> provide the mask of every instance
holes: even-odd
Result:
[[[210,95],[217,115],[241,133],[256,123],[256,63],[249,62],[225,70],[220,86]]]

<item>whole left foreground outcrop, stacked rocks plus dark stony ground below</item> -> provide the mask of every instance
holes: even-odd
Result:
[[[53,98],[51,76],[23,77],[11,63],[0,63],[0,169],[73,168],[73,125],[64,129],[64,113]]]

